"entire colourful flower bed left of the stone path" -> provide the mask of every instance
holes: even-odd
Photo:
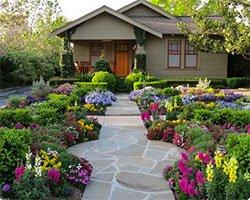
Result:
[[[79,198],[92,166],[66,149],[98,139],[101,124],[91,115],[105,114],[114,101],[107,90],[68,83],[51,88],[43,79],[32,95],[10,98],[0,110],[0,197]]]

